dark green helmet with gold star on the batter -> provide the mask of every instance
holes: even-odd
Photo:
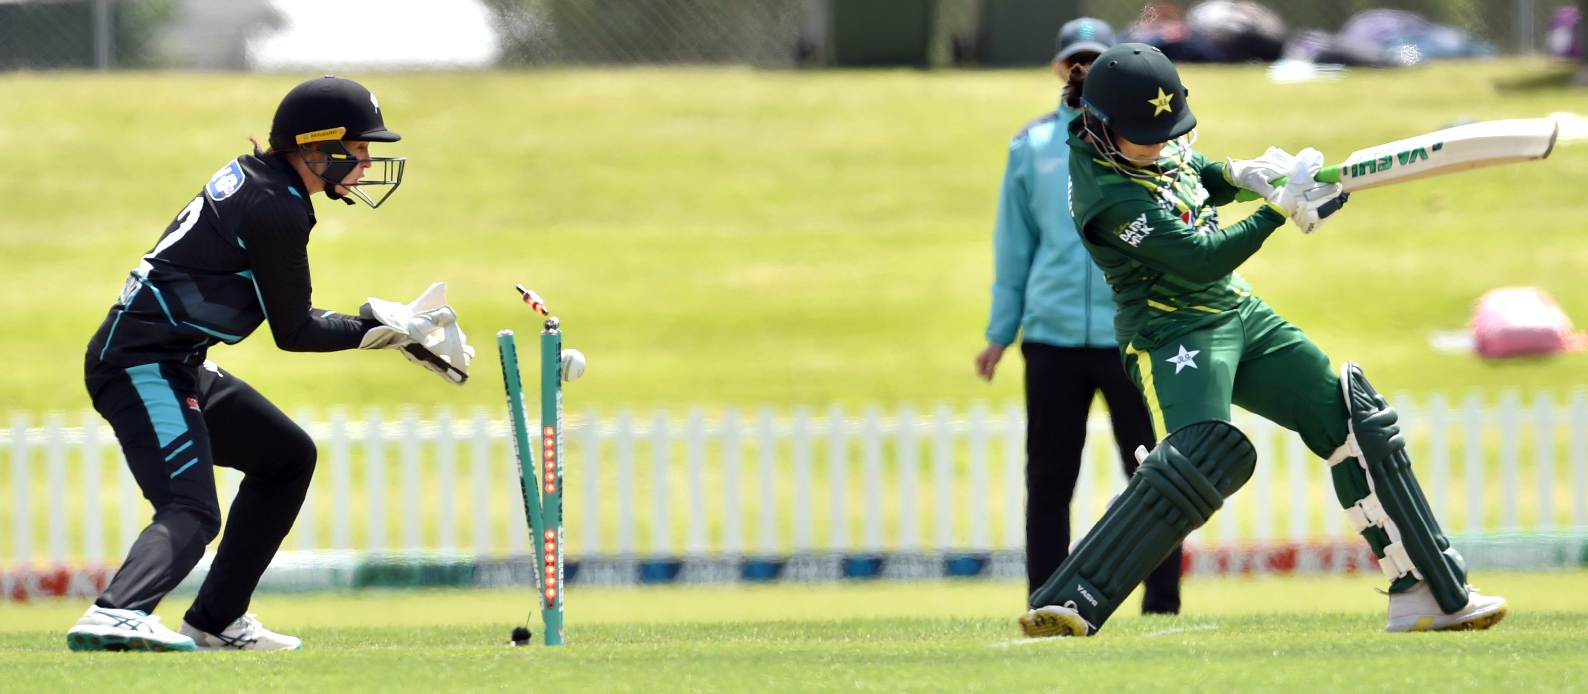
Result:
[[[1081,108],[1137,145],[1166,143],[1196,129],[1180,73],[1145,43],[1121,43],[1097,56],[1081,87]]]

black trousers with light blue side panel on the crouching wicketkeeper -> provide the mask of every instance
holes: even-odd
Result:
[[[314,441],[219,368],[119,368],[91,359],[87,387],[154,505],[154,522],[95,605],[152,611],[221,532],[214,465],[245,473],[214,564],[184,615],[187,624],[219,634],[248,611],[259,576],[297,519],[314,475]]]

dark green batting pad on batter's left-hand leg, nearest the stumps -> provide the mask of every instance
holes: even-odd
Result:
[[[1202,527],[1256,468],[1258,453],[1234,424],[1208,419],[1164,437],[1069,559],[1031,596],[1062,605],[1096,632],[1142,580]]]

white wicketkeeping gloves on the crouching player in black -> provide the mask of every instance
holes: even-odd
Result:
[[[368,297],[359,316],[381,322],[364,334],[359,349],[399,349],[446,383],[462,386],[468,381],[475,348],[468,346],[457,327],[457,313],[446,303],[446,283],[430,284],[411,303]]]

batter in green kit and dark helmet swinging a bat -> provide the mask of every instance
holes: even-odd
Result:
[[[1390,581],[1386,630],[1486,629],[1505,600],[1467,584],[1412,473],[1397,414],[1347,362],[1235,273],[1291,219],[1318,230],[1347,200],[1315,176],[1323,156],[1270,148],[1215,162],[1191,149],[1186,87],[1156,48],[1124,43],[1093,64],[1070,135],[1070,210],[1118,303],[1115,334],[1162,438],[1075,553],[1031,596],[1032,637],[1091,635],[1137,583],[1250,480],[1256,453],[1231,403],[1301,434]],[[1288,183],[1275,187],[1282,176]],[[1231,226],[1239,189],[1267,203]]]

